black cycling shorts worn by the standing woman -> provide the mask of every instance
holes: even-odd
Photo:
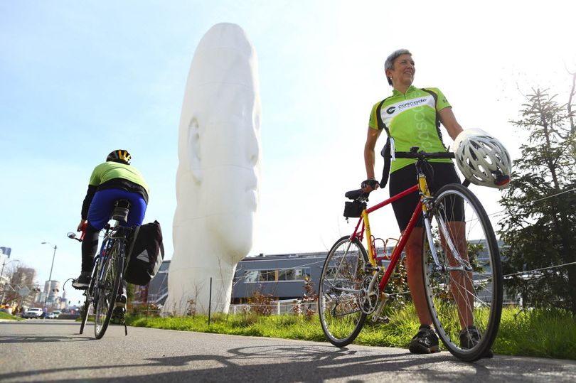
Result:
[[[432,195],[448,183],[461,183],[453,163],[428,162],[425,163],[423,167],[426,182]],[[390,173],[390,196],[397,195],[407,188],[411,188],[416,185],[417,182],[416,167],[414,165],[405,166],[404,168],[398,169],[398,171]],[[408,226],[408,222],[410,222],[412,213],[414,213],[419,200],[420,195],[415,191],[392,203],[400,232],[404,231]],[[452,207],[447,206],[447,208],[451,209]],[[463,221],[464,212],[462,211],[462,203],[458,204],[456,210],[454,221]],[[422,225],[422,215],[420,215],[420,219],[416,222],[416,227],[422,227]]]

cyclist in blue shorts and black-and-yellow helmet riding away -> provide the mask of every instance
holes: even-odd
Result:
[[[98,234],[110,220],[114,202],[120,199],[129,200],[129,227],[142,225],[146,206],[148,205],[149,187],[142,174],[130,166],[132,156],[126,150],[115,150],[108,154],[106,162],[94,168],[84,203],[82,203],[82,220],[78,232],[85,227],[82,241],[82,271],[72,286],[85,289],[90,286],[93,259],[98,249]],[[123,318],[126,310],[126,284],[122,282],[122,293],[116,298],[113,317]]]

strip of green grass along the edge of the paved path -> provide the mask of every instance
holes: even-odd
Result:
[[[407,348],[420,325],[414,307],[408,305],[387,315],[388,324],[374,325],[366,321],[354,343]],[[210,325],[206,315],[176,318],[127,315],[126,321],[128,325],[139,327],[325,341],[317,315],[306,320],[294,315],[215,314],[210,318]],[[576,360],[576,321],[571,313],[558,309],[519,311],[518,308],[504,308],[492,349],[498,355]]]

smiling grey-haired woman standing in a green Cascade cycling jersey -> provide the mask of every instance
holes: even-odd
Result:
[[[368,136],[364,147],[367,179],[362,183],[362,188],[366,193],[370,193],[372,190],[384,187],[388,180],[388,170],[390,170],[390,196],[393,196],[414,185],[417,174],[415,166],[412,166],[415,163],[414,159],[399,158],[392,161],[390,165],[390,153],[393,154],[395,150],[407,152],[412,146],[418,146],[420,150],[427,152],[447,151],[442,141],[440,123],[444,125],[452,139],[456,139],[462,132],[462,126],[457,122],[451,105],[440,90],[437,88],[418,89],[412,86],[415,63],[408,50],[396,50],[388,56],[385,61],[385,74],[388,84],[393,87],[393,94],[376,103],[370,113]],[[386,165],[383,180],[380,182],[382,185],[380,185],[375,179],[374,164],[375,144],[382,131],[386,132],[388,139],[383,150]],[[450,159],[430,160],[425,175],[429,180],[428,185],[432,194],[448,183],[460,183],[454,163]],[[419,200],[420,195],[415,192],[392,204],[401,232],[407,227]],[[450,224],[457,226],[464,225],[464,222],[450,222]],[[432,318],[425,298],[422,276],[422,234],[422,217],[420,217],[405,246],[408,286],[421,324],[420,330],[412,338],[409,347],[410,352],[416,354],[439,352],[438,337],[431,327]],[[465,309],[461,312],[464,313],[461,318],[463,330],[460,338],[464,340],[462,347],[468,346],[469,348],[471,345],[466,344],[466,339],[474,342],[478,340],[479,335],[477,331],[474,333],[474,328],[468,327],[471,321],[466,317],[471,313],[465,313]]]

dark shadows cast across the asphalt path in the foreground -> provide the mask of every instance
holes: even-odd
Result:
[[[38,337],[35,341],[40,340]],[[58,341],[54,337],[44,341]],[[16,341],[18,337],[2,337]],[[71,340],[70,338],[67,338]],[[78,340],[78,338],[76,338]],[[85,338],[82,338],[85,340]],[[23,341],[23,340],[18,340]],[[24,340],[26,341],[26,340]],[[156,373],[146,374],[146,381],[152,382],[215,382],[215,381],[261,381],[261,382],[311,382],[326,379],[350,379],[354,382],[358,375],[378,374],[395,372],[395,376],[407,379],[415,377],[416,380],[446,381],[462,379],[462,371],[457,371],[451,366],[454,363],[466,365],[466,380],[469,382],[493,381],[494,379],[506,379],[508,382],[526,382],[531,372],[558,372],[558,368],[544,363],[534,362],[530,368],[526,365],[508,365],[505,359],[498,361],[498,357],[487,362],[464,363],[454,360],[447,352],[431,356],[416,356],[410,352],[398,352],[395,354],[378,355],[364,351],[351,350],[348,348],[336,349],[329,345],[267,345],[255,347],[240,347],[228,350],[228,356],[221,355],[187,355],[180,357],[158,357],[143,359],[142,363],[114,364],[100,366],[78,365],[78,367],[65,367],[43,369],[31,372],[18,372],[18,374],[0,374],[0,381],[19,377],[33,377],[41,374],[53,374],[58,372],[76,371],[82,369],[99,370],[122,367],[127,372],[130,367],[156,367]],[[212,362],[210,367],[202,368],[202,362]],[[217,362],[220,367],[215,367]],[[174,368],[166,369],[166,372],[158,371],[158,367],[185,367],[186,371],[174,371]],[[500,365],[498,368],[498,365]],[[490,367],[490,368],[489,368]],[[137,370],[140,370],[138,368]],[[160,370],[162,370],[160,368]],[[318,377],[321,377],[319,379]],[[370,377],[373,379],[374,375]],[[119,376],[114,381],[119,382],[142,382],[143,374],[140,371],[134,376]],[[528,379],[530,380],[530,379]],[[62,380],[66,382],[66,379]],[[105,382],[110,377],[83,378],[82,381]]]

